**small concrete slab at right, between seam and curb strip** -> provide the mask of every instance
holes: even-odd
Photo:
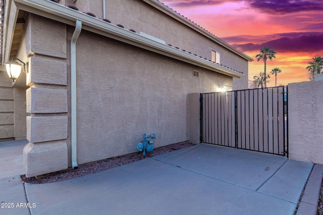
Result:
[[[288,160],[258,192],[297,203],[313,164]]]

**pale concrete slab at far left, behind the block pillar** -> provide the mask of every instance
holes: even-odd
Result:
[[[27,144],[27,139],[0,142],[0,179],[25,174],[22,153]]]

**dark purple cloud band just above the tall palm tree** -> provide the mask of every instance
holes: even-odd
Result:
[[[323,34],[282,37],[263,43],[233,44],[233,46],[244,52],[256,51],[263,46],[270,46],[276,52],[318,52],[323,50]]]

